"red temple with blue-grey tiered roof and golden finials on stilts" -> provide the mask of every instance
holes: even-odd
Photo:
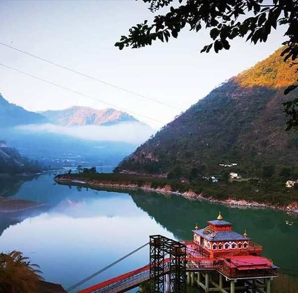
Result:
[[[278,268],[260,255],[263,247],[254,243],[246,230],[243,234],[233,231],[233,224],[221,213],[207,223],[204,228],[195,226],[192,241],[183,241],[188,257],[201,259],[200,271],[187,273],[188,284],[197,283],[205,292],[270,293]]]

